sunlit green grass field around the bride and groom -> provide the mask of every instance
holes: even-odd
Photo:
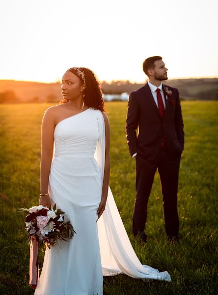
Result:
[[[0,106],[0,295],[31,295],[28,286],[29,247],[20,207],[38,203],[40,125],[50,104]],[[145,283],[126,275],[104,279],[105,295],[218,294],[218,102],[182,102],[185,150],[178,191],[181,241],[168,244],[164,232],[162,196],[156,174],[148,204],[141,246],[133,239],[135,160],[126,137],[127,104],[111,102],[110,187],[127,233],[142,264],[167,270],[169,282]],[[40,266],[43,256],[40,254]]]

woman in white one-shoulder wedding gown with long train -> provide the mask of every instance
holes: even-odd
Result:
[[[110,191],[109,119],[96,76],[70,68],[61,92],[42,121],[39,205],[56,204],[77,234],[46,250],[35,295],[100,295],[103,276],[120,273],[170,281],[141,265]]]

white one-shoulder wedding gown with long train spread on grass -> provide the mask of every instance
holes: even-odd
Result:
[[[49,177],[51,204],[65,212],[77,234],[45,252],[35,295],[101,295],[103,276],[170,281],[167,271],[141,265],[109,188],[97,221],[105,163],[105,125],[89,108],[54,129],[55,154]]]

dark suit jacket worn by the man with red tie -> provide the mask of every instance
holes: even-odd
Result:
[[[155,159],[160,151],[162,139],[165,148],[173,154],[181,154],[184,149],[184,124],[179,99],[179,91],[163,84],[172,91],[167,96],[164,91],[165,112],[162,119],[148,84],[129,95],[126,134],[130,155],[134,153]],[[138,127],[138,136],[136,129]]]

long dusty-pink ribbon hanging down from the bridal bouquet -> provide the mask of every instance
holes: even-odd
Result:
[[[29,257],[29,285],[32,289],[36,288],[39,280],[38,247],[39,242],[36,239],[31,240]]]

